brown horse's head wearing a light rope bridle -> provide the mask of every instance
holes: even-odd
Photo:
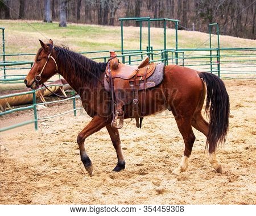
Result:
[[[40,84],[46,82],[57,72],[56,54],[53,49],[53,41],[48,44],[39,40],[42,48],[36,54],[35,62],[24,80],[28,88],[37,89]]]

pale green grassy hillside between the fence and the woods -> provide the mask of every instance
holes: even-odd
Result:
[[[0,20],[5,27],[6,53],[36,53],[39,41],[64,44],[74,51],[98,51],[121,48],[121,28],[68,23],[67,28],[59,28],[58,23],[38,21]],[[139,48],[139,28],[124,28],[124,45],[126,49]],[[179,31],[179,48],[209,47],[209,35],[201,32]],[[221,47],[256,47],[255,40],[220,36]],[[167,30],[167,48],[175,47],[175,31]],[[213,36],[216,47],[216,36]],[[151,28],[151,45],[163,48],[163,28]],[[143,48],[147,46],[147,28],[143,28]]]

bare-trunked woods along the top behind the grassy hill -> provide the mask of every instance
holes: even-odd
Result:
[[[179,19],[180,30],[201,32],[218,22],[222,35],[250,39],[255,39],[255,14],[255,0],[0,0],[1,19],[58,21],[61,27],[66,22],[119,26],[118,18],[150,16]]]

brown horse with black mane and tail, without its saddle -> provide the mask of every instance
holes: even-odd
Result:
[[[117,165],[113,171],[125,169],[119,132],[110,124],[110,94],[104,89],[106,63],[96,63],[67,47],[55,47],[53,41],[48,44],[40,41],[35,63],[24,83],[31,89],[46,82],[54,74],[59,73],[69,85],[79,93],[82,106],[92,121],[77,136],[82,163],[89,175],[93,175],[93,165],[85,150],[85,139],[94,132],[106,127],[117,152]],[[209,123],[204,120],[201,110],[204,104],[207,86],[206,111]],[[143,92],[143,91],[142,91]],[[141,97],[142,93],[139,93]],[[209,161],[213,168],[222,173],[222,166],[216,157],[216,147],[224,143],[229,124],[229,95],[224,83],[212,73],[197,72],[178,65],[164,67],[164,77],[160,85],[146,90],[144,115],[154,114],[166,109],[174,114],[177,126],[185,143],[181,164],[173,171],[175,175],[188,168],[195,135],[192,126],[207,137]],[[131,106],[124,107],[124,118],[131,118]]]

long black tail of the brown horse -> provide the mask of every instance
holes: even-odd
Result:
[[[209,115],[207,146],[209,153],[220,143],[225,143],[229,128],[229,95],[224,82],[212,73],[200,72],[199,76],[207,85],[205,112]]]

